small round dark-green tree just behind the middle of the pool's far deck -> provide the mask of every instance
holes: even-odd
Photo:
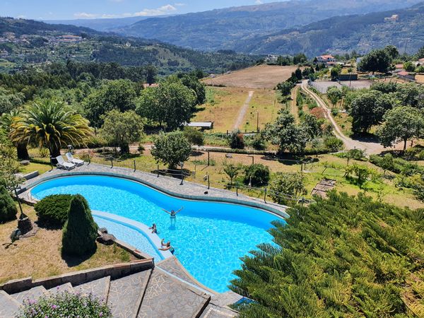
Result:
[[[155,138],[151,150],[155,160],[165,163],[170,169],[175,169],[178,163],[187,161],[191,153],[192,146],[181,131],[161,133]]]

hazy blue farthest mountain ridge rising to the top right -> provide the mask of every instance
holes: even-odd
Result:
[[[148,18],[115,28],[122,35],[157,39],[206,51],[235,49],[240,41],[333,16],[406,8],[420,0],[293,0],[223,8],[168,18]],[[266,52],[268,53],[268,52]]]

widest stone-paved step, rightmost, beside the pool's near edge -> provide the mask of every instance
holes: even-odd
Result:
[[[153,269],[138,317],[199,317],[211,296]]]

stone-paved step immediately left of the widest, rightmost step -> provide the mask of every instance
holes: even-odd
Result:
[[[137,317],[151,273],[148,269],[110,282],[107,303],[113,317]]]

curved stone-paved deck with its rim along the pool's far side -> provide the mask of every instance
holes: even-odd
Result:
[[[136,182],[141,182],[142,184],[146,184],[160,192],[170,196],[177,196],[181,199],[242,204],[252,208],[261,208],[283,218],[289,217],[285,212],[287,208],[286,206],[274,203],[265,203],[263,199],[252,198],[243,194],[239,194],[237,196],[235,192],[212,187],[208,189],[208,187],[203,184],[197,184],[194,182],[184,181],[184,184],[180,184],[180,179],[165,176],[158,177],[152,173],[142,172],[139,170],[134,172],[134,170],[128,168],[110,167],[107,165],[98,165],[93,163],[76,167],[70,171],[55,168],[51,171],[45,172],[44,174],[23,183],[21,185],[19,196],[28,203],[35,203],[35,200],[30,196],[30,189],[32,187],[35,187],[35,185],[49,179],[54,179],[55,177],[66,177],[71,175],[108,175],[110,177],[124,177]]]

